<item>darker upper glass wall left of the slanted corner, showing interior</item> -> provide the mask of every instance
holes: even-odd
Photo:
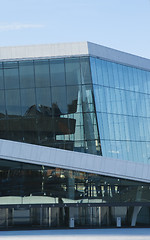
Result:
[[[89,58],[0,63],[0,139],[101,154]]]

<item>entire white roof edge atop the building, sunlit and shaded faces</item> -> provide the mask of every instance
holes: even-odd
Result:
[[[0,47],[0,61],[88,55],[150,71],[150,59],[121,52],[91,42]]]

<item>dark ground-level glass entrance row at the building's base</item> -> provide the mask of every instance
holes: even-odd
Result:
[[[105,228],[150,226],[150,207],[78,206],[1,208],[0,229]],[[73,225],[70,224],[73,221]]]

